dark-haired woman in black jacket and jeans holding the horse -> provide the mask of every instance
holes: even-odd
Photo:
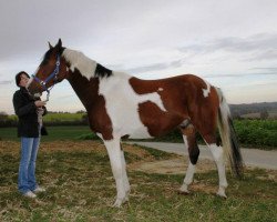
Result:
[[[19,119],[18,137],[21,138],[18,189],[23,195],[35,198],[35,193],[45,191],[37,183],[35,161],[40,145],[42,114],[47,113],[47,109],[45,102],[35,100],[28,93],[25,87],[29,79],[27,72],[19,72],[16,75],[16,82],[20,89],[13,94],[13,107]]]

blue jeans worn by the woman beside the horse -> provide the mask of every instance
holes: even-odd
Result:
[[[21,193],[33,191],[35,180],[35,161],[40,138],[21,138],[21,159],[19,165],[18,189]]]

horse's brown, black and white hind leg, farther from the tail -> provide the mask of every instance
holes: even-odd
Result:
[[[196,143],[196,131],[192,124],[188,124],[185,128],[181,128],[181,131],[183,133],[185,147],[188,150],[189,161],[186,171],[186,176],[184,179],[182,186],[179,188],[179,192],[189,193],[188,185],[193,182],[195,164],[197,163],[199,157],[199,149]]]

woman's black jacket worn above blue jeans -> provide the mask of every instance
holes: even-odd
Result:
[[[18,115],[18,137],[38,138],[39,121],[37,107],[34,104],[34,98],[30,97],[25,88],[20,88],[13,94],[13,108]],[[45,107],[43,107],[44,113],[47,113]]]

